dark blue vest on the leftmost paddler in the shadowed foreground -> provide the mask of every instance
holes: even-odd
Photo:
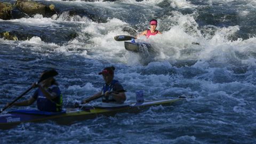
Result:
[[[62,110],[62,94],[60,89],[56,85],[52,85],[47,89],[48,92],[55,92],[58,96],[54,99],[47,99],[41,90],[37,89],[38,97],[37,97],[37,109],[42,111],[53,111],[58,112]]]

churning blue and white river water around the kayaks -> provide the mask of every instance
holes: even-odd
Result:
[[[98,73],[108,66],[116,67],[126,102],[135,101],[137,90],[143,90],[146,100],[187,99],[71,125],[19,124],[0,130],[1,143],[256,142],[256,1],[37,2],[54,4],[58,17],[0,20],[0,31],[34,35],[26,41],[0,39],[1,107],[49,67],[59,72],[65,107],[100,91]],[[70,16],[70,11],[76,13]],[[154,54],[126,51],[123,42],[114,40],[147,29],[153,18],[163,34],[137,41],[151,43]],[[14,109],[22,108],[5,113]]]

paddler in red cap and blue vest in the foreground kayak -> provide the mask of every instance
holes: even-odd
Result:
[[[81,103],[87,103],[93,99],[100,98],[102,95],[102,102],[110,102],[110,103],[124,103],[126,100],[126,95],[124,92],[119,92],[124,90],[123,86],[114,79],[114,70],[115,67],[106,67],[104,68],[99,75],[103,76],[105,84],[102,87],[102,90],[92,97],[83,100]]]

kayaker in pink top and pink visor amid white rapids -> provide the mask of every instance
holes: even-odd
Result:
[[[149,38],[149,36],[154,36],[156,34],[162,34],[160,31],[158,31],[156,29],[156,27],[157,27],[157,20],[155,20],[155,19],[150,20],[149,21],[149,25],[150,25],[150,29],[142,31],[142,33],[140,33],[137,37],[139,37],[139,36],[146,36],[147,38]]]

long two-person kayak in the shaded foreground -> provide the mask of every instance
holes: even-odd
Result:
[[[53,120],[58,124],[71,124],[84,119],[93,119],[99,115],[113,116],[117,113],[139,113],[150,106],[171,105],[183,98],[147,101],[143,103],[113,104],[103,103],[100,105],[82,105],[80,108],[70,108],[67,111],[51,113],[39,110],[15,110],[9,114],[0,115],[0,129],[10,129],[20,123],[42,122]]]

